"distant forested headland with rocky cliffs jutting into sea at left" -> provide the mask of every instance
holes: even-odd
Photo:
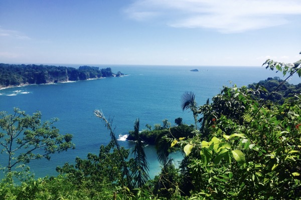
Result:
[[[85,65],[77,69],[74,67],[43,64],[0,63],[0,88],[23,84],[45,84],[120,75],[123,75],[123,73],[118,71],[115,74],[111,71],[110,67],[99,69],[99,67]]]

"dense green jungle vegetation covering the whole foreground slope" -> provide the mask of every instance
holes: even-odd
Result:
[[[301,76],[301,60],[284,64],[267,60],[263,65]],[[89,153],[76,164],[58,167],[56,177],[29,178],[16,185],[0,183],[1,199],[299,199],[301,196],[301,95],[298,88],[281,93],[286,83],[277,78],[274,90],[264,84],[224,86],[204,105],[193,92],[182,96],[182,109],[190,109],[195,124],[176,120],[172,126],[146,125],[139,120],[132,132],[135,147],[118,144],[112,121],[95,110],[111,136],[99,154]],[[269,84],[268,84],[269,85]],[[292,87],[292,86],[289,86]],[[284,89],[286,92],[286,89]],[[275,92],[281,94],[278,99]],[[286,95],[287,94],[287,95]],[[284,96],[285,95],[285,96]],[[182,120],[181,120],[182,121]],[[153,132],[154,131],[154,132]],[[156,135],[161,173],[149,179],[143,151],[143,134]],[[169,154],[185,155],[175,167]],[[129,157],[130,153],[133,156]],[[8,172],[10,174],[10,172]],[[26,175],[26,173],[24,174]],[[8,177],[8,175],[7,175]]]

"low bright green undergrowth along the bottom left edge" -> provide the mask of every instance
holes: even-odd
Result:
[[[30,179],[21,185],[0,183],[0,199],[112,199],[115,187],[103,182],[94,182],[93,188],[79,187],[66,175]]]

